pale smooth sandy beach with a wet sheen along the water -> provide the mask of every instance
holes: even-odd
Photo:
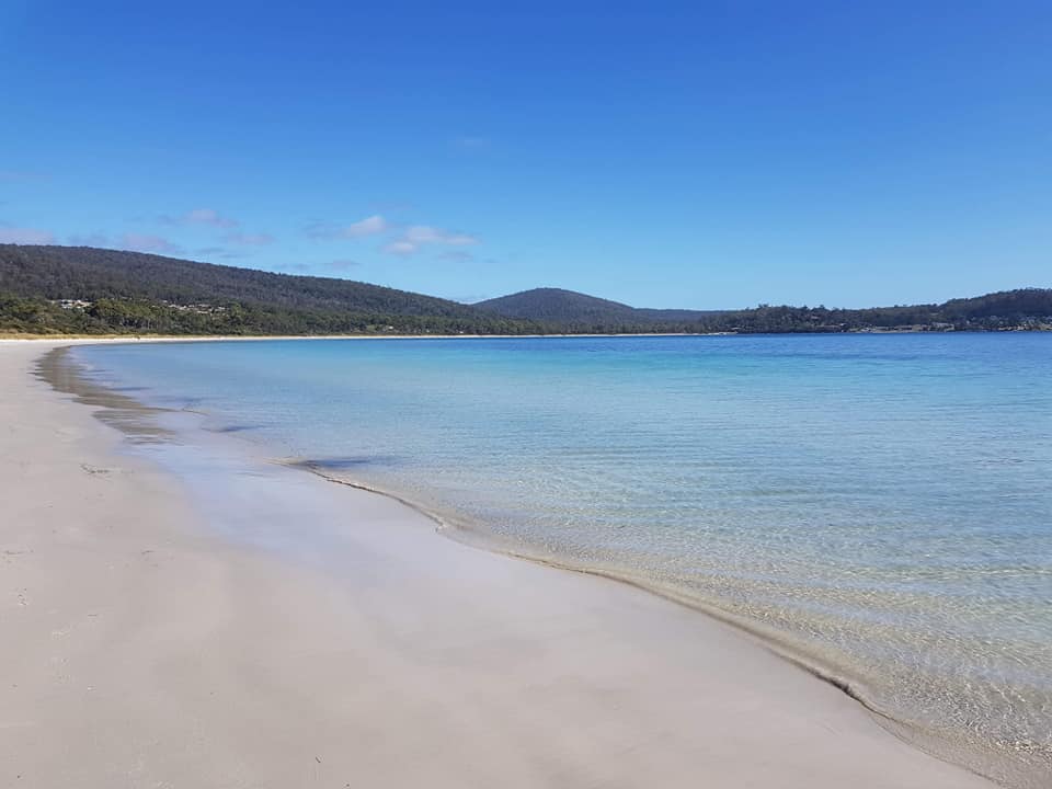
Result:
[[[0,786],[992,786],[725,625],[393,500],[183,447],[191,495],[33,375],[56,344],[0,342]]]

